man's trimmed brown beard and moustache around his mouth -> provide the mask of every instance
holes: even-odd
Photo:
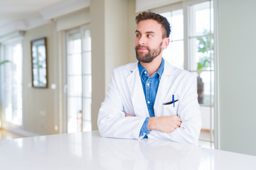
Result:
[[[154,58],[156,58],[157,56],[159,56],[161,54],[161,51],[162,51],[161,45],[162,44],[163,44],[163,42],[160,43],[159,47],[156,47],[154,49],[150,49],[149,47],[146,47],[146,46],[140,46],[140,45],[136,46],[135,52],[136,52],[137,60],[139,60],[139,62],[144,62],[144,63],[152,62],[154,60]],[[148,50],[148,52],[139,52],[138,49],[140,47],[146,48],[146,50]]]

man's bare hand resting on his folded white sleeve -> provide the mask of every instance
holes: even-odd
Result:
[[[149,130],[159,130],[160,132],[173,132],[181,126],[181,118],[176,115],[149,118]]]

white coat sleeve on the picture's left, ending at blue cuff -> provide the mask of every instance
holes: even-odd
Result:
[[[120,70],[114,69],[107,96],[98,114],[99,132],[102,137],[139,140],[142,138],[139,137],[139,131],[146,117],[125,117],[122,91],[119,91],[120,87],[117,85],[120,84],[120,81],[125,81],[124,75],[120,75]]]

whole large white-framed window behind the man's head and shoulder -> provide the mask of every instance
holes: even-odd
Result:
[[[171,24],[164,59],[198,75],[198,103],[203,119],[199,143],[214,148],[213,1],[186,1],[154,12],[165,16]]]

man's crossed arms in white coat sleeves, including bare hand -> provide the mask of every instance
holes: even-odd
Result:
[[[192,80],[193,77],[190,79]],[[97,125],[100,135],[102,137],[139,140],[141,139],[139,132],[145,121],[146,114],[129,114],[133,112],[132,103],[126,106],[126,108],[131,108],[131,111],[129,109],[124,111],[122,100],[127,98],[122,98],[122,95],[127,97],[125,95],[129,96],[129,94],[126,94],[127,91],[125,90],[122,91],[122,86],[117,86],[117,82],[119,81],[113,76],[107,96],[99,111]],[[193,84],[192,81],[186,81],[186,88],[183,88],[184,92],[181,94],[183,97],[180,98],[178,104],[178,116],[166,114],[149,118],[148,128],[151,130],[150,135],[148,135],[149,138],[182,143],[198,142],[201,129],[201,114]]]

